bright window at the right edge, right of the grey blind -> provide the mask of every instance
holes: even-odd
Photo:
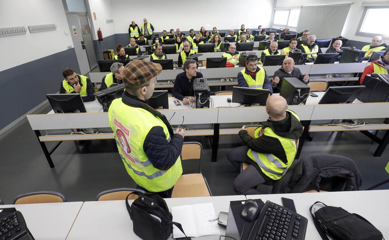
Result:
[[[389,37],[387,24],[380,21],[377,16],[388,16],[389,7],[365,7],[361,21],[358,26],[357,35]]]

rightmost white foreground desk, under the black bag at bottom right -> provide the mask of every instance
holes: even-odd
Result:
[[[321,239],[309,212],[309,207],[316,201],[321,201],[328,206],[342,207],[347,212],[359,214],[380,230],[385,238],[389,236],[387,222],[387,216],[389,215],[389,208],[387,207],[389,190],[266,194],[247,195],[246,197],[247,199],[260,198],[264,202],[269,200],[279,205],[282,205],[281,197],[293,199],[296,212],[308,219],[305,239]],[[320,208],[322,206],[318,204],[314,207]]]

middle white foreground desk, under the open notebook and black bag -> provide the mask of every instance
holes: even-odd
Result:
[[[213,203],[216,216],[219,212],[228,212],[230,201],[246,200],[243,195],[213,196],[197,198],[166,198],[165,201],[171,212],[171,208],[180,205],[193,205],[197,203]],[[130,205],[133,200],[129,200]],[[221,235],[226,228],[219,226]],[[74,222],[67,240],[79,239],[131,239],[140,240],[133,232],[133,224],[124,200],[119,201],[87,201]],[[170,236],[169,239],[173,239]],[[219,235],[202,236],[196,239],[218,240]]]

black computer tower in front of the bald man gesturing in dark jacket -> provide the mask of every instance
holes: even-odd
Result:
[[[309,96],[307,84],[295,77],[285,77],[282,80],[280,96],[283,96],[288,105],[305,104]]]

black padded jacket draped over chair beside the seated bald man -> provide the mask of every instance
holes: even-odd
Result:
[[[335,177],[344,174],[346,178]],[[272,193],[302,193],[310,190],[355,191],[362,185],[354,161],[331,154],[312,154],[295,160],[285,175],[273,184]]]

